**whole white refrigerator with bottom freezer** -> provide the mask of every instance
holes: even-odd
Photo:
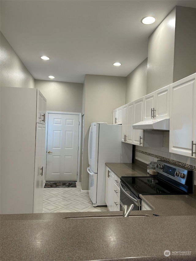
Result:
[[[106,162],[131,163],[132,144],[121,142],[122,125],[93,122],[89,130],[89,196],[93,206],[104,206]]]

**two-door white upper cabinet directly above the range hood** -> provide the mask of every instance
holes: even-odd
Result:
[[[144,96],[144,121],[169,118],[170,85]]]

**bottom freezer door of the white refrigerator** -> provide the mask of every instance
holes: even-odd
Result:
[[[97,206],[97,173],[92,172],[90,168],[87,168],[89,173],[89,197],[93,203],[93,207]]]

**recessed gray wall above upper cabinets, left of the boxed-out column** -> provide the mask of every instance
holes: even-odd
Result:
[[[126,77],[125,104],[130,103],[146,95],[147,62],[148,58],[146,58]]]

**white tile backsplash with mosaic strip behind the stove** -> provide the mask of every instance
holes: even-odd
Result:
[[[136,146],[135,158],[147,164],[151,161],[161,159],[171,162],[172,164],[183,166],[186,169],[191,169],[194,175],[194,185],[196,185],[196,159],[170,153],[169,132],[164,132],[163,136],[163,147]]]

